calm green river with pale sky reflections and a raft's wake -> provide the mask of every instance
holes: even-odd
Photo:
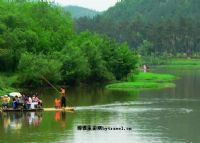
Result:
[[[200,72],[167,73],[180,77],[176,88],[143,92],[69,88],[73,113],[0,113],[0,143],[197,143]],[[37,92],[45,107],[58,97],[52,89]]]

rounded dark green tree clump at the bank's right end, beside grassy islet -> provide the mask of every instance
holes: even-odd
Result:
[[[84,77],[87,82],[102,82],[122,79],[137,69],[138,58],[127,44],[118,44],[95,33],[80,33],[62,53],[68,57],[67,61],[64,58],[63,79],[77,77],[81,81]]]

